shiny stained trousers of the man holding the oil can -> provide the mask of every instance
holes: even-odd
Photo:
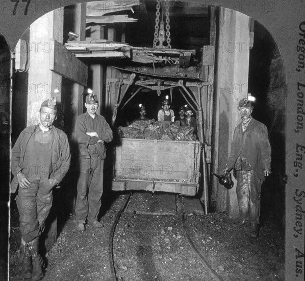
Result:
[[[260,223],[260,197],[262,182],[255,171],[236,171],[236,194],[240,220]]]

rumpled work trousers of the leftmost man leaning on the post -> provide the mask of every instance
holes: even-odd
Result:
[[[30,175],[28,180],[31,182],[31,188],[19,187],[17,196],[20,231],[27,243],[41,235],[53,199],[52,186],[46,176]]]

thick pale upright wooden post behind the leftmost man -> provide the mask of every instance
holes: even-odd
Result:
[[[48,27],[47,29],[45,27]],[[39,123],[39,108],[41,103],[56,96],[61,102],[61,76],[49,69],[49,52],[54,51],[49,38],[62,40],[63,8],[49,12],[31,24],[30,42],[44,42],[39,48],[32,48],[29,53],[29,90],[27,99],[27,126]],[[53,39],[54,40],[54,39]],[[58,89],[58,93],[54,90]]]

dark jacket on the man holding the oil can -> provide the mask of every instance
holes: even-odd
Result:
[[[263,123],[252,118],[244,132],[242,123],[237,125],[228,158],[228,168],[234,168],[239,155],[246,158],[257,176],[264,180],[264,170],[270,169],[271,147],[267,127]]]

